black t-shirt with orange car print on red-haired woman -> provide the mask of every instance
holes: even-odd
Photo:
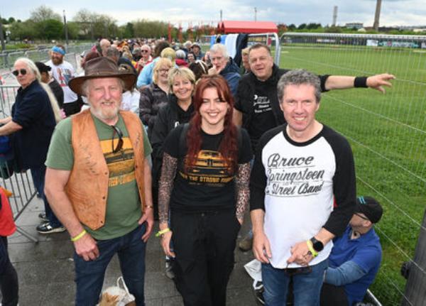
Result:
[[[185,169],[187,148],[179,148],[183,126],[178,126],[165,139],[164,152],[178,158],[178,169],[170,197],[170,208],[185,212],[208,212],[235,209],[233,173],[222,154],[217,151],[223,133],[209,135],[202,132],[202,146],[197,162]],[[239,164],[249,163],[253,153],[249,134],[241,129]]]

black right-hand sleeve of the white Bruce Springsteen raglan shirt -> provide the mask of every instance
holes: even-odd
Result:
[[[339,133],[324,126],[324,137],[332,147],[336,160],[333,177],[334,207],[324,228],[336,236],[346,229],[356,205],[356,178],[354,155],[349,142]]]

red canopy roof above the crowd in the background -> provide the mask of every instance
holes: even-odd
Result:
[[[277,25],[271,21],[222,21],[217,33],[278,33]]]

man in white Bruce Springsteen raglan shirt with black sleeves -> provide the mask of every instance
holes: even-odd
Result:
[[[263,134],[256,148],[251,222],[266,305],[285,305],[291,278],[295,305],[319,305],[332,239],[354,213],[351,147],[315,119],[320,99],[317,76],[283,75],[278,100],[287,123]]]

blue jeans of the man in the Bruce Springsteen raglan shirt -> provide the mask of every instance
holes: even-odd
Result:
[[[267,306],[285,306],[287,301],[288,284],[293,278],[293,294],[295,306],[320,305],[320,294],[324,271],[328,260],[310,266],[310,273],[289,275],[287,269],[276,269],[271,264],[262,263],[262,280],[265,289],[263,297]]]

